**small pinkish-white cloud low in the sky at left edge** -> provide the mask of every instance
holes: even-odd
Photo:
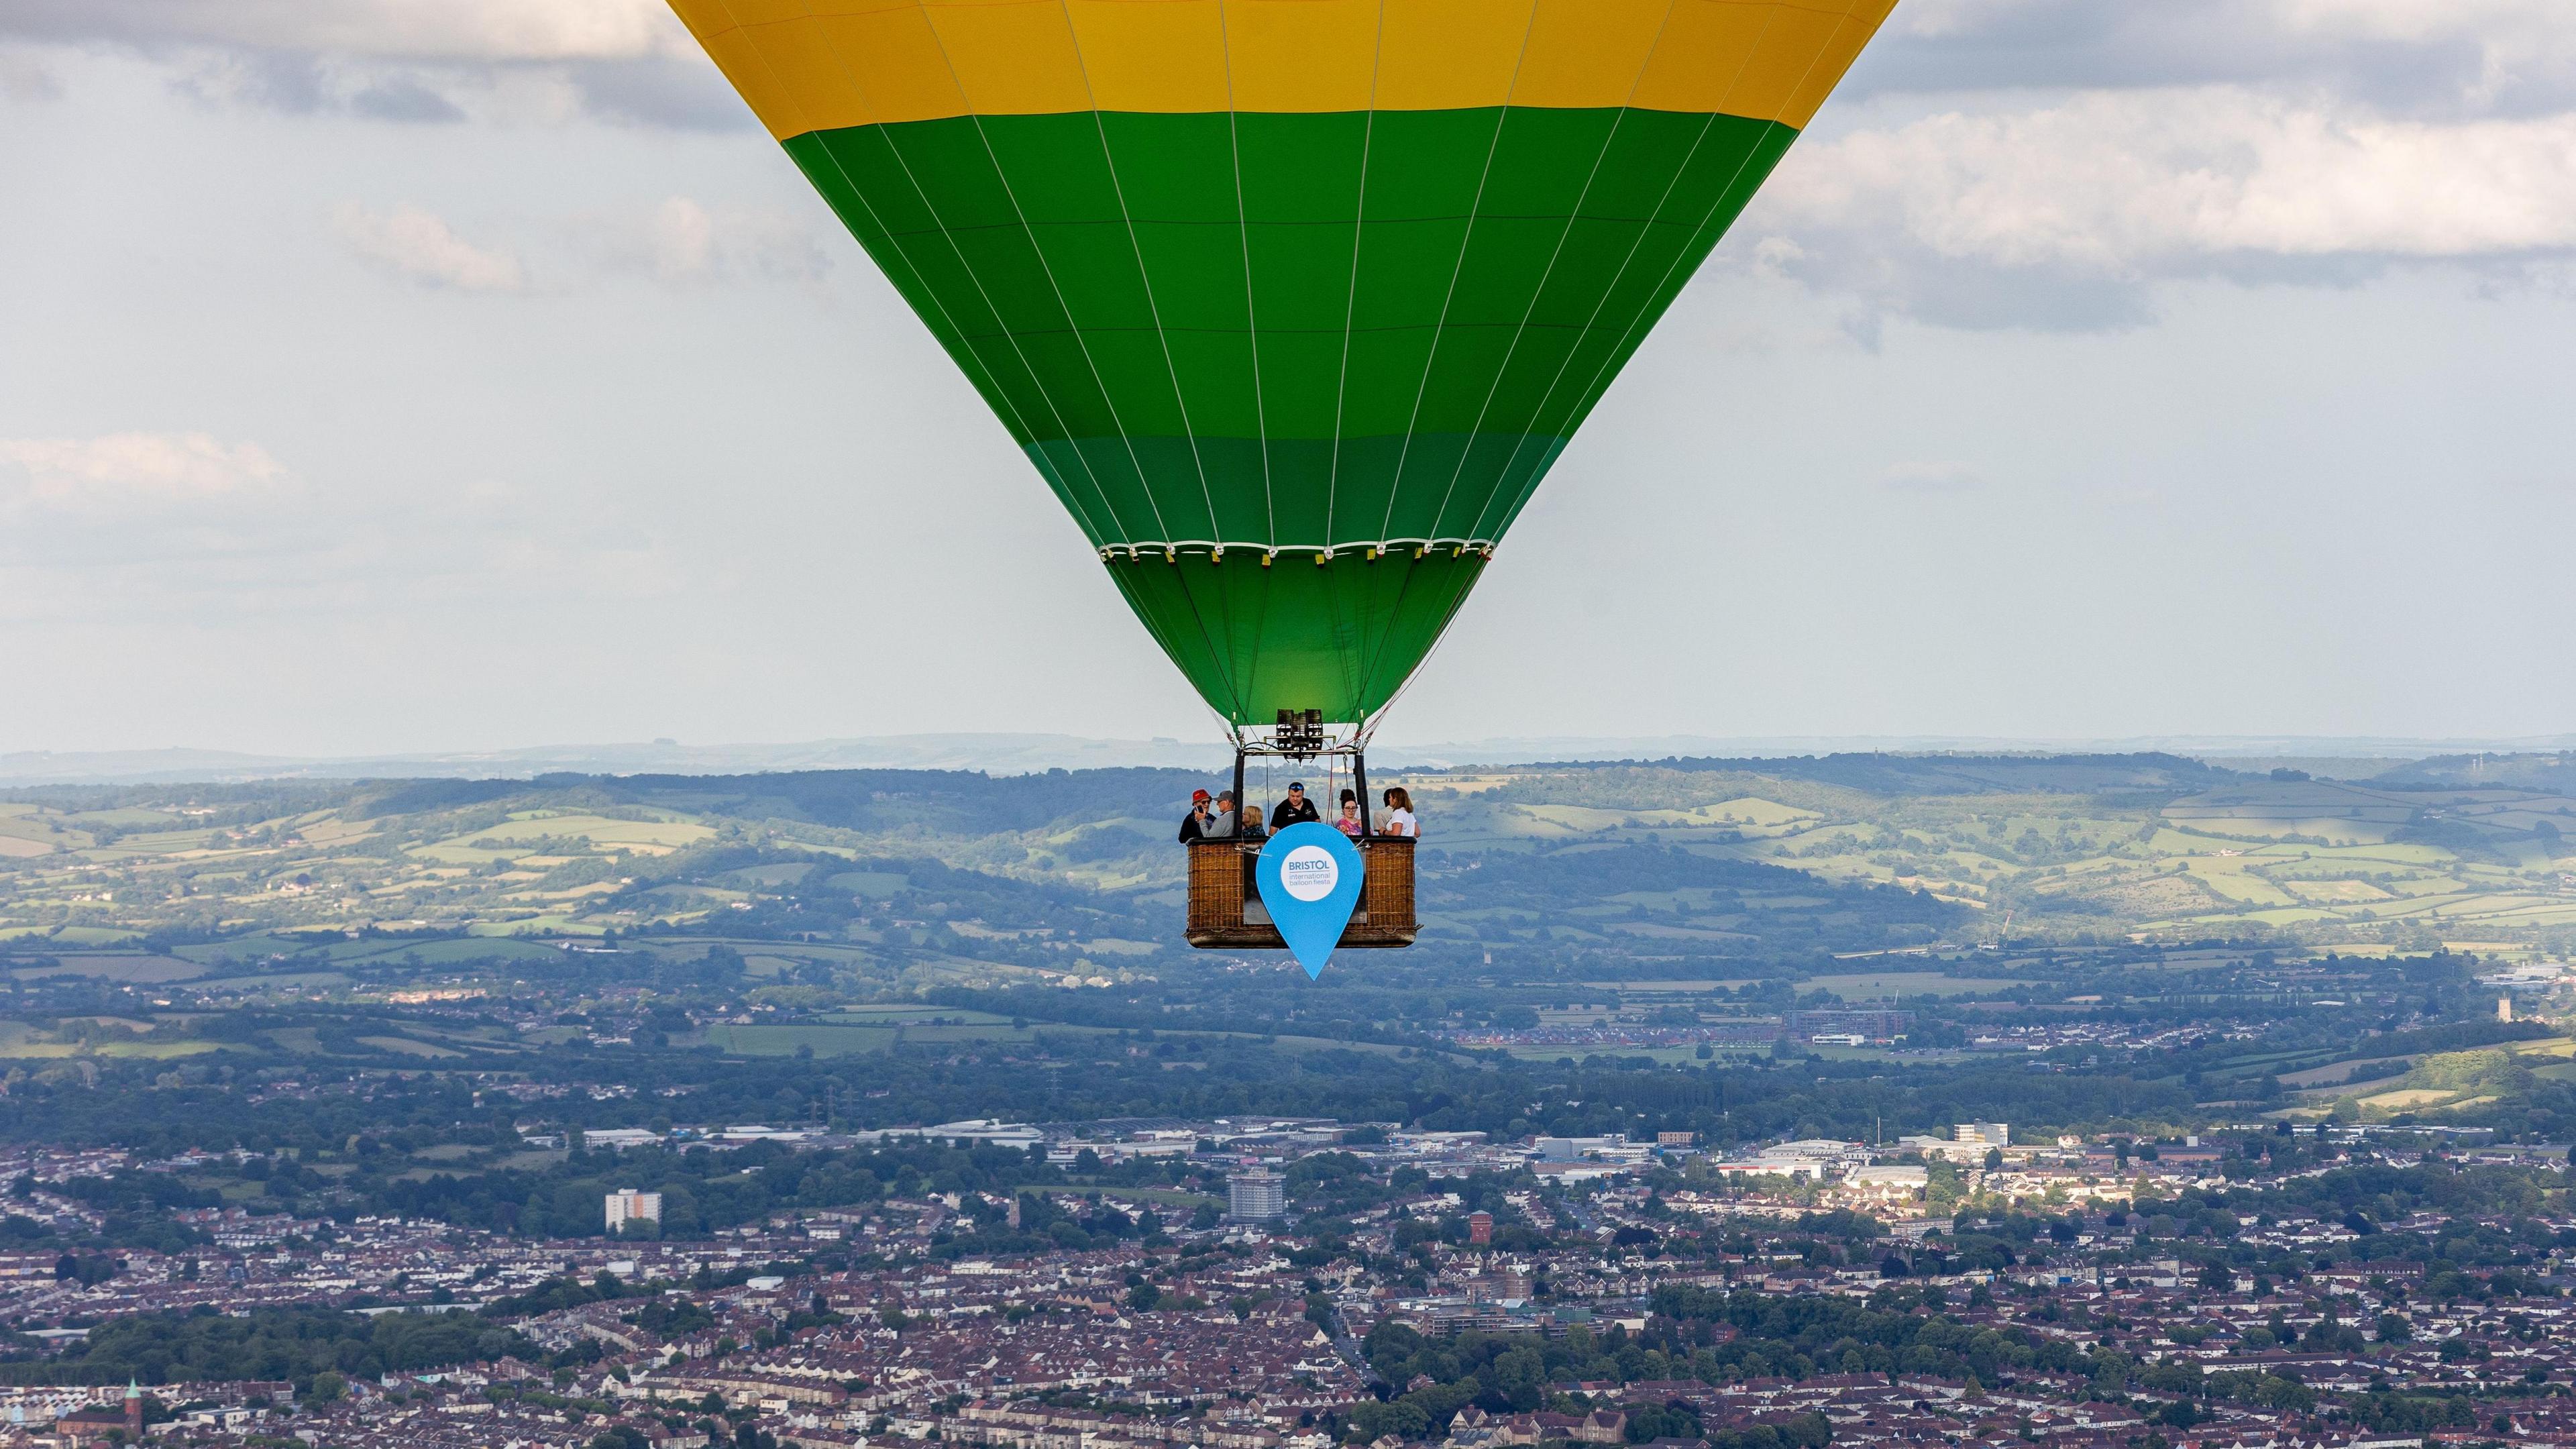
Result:
[[[258,443],[206,433],[0,438],[0,511],[149,513],[276,498],[286,469]]]

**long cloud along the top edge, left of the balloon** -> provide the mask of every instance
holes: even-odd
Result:
[[[456,62],[693,49],[662,0],[13,0],[0,10],[0,34]]]

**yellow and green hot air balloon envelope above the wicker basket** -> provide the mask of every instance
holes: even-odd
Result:
[[[672,8],[1226,719],[1242,779],[1244,750],[1360,768],[1893,3]]]

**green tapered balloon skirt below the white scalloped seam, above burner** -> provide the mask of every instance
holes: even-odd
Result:
[[[1200,699],[1234,722],[1280,709],[1365,719],[1414,673],[1466,601],[1484,557],[1409,552],[1327,565],[1255,552],[1113,559],[1110,578]]]

